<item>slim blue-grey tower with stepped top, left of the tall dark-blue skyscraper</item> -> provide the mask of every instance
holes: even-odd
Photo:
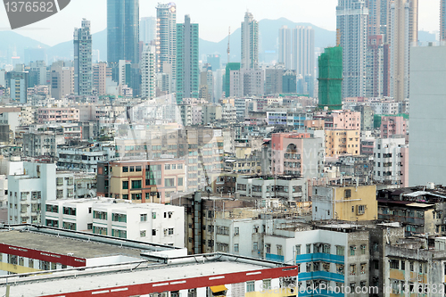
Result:
[[[74,29],[74,94],[91,95],[93,84],[90,21]]]

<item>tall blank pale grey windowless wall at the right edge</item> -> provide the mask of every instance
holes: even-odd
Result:
[[[446,46],[410,50],[409,186],[446,184]]]

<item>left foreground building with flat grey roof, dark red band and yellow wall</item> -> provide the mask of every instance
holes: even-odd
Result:
[[[118,263],[139,263],[142,253],[184,256],[186,249],[130,241],[91,233],[34,225],[1,228],[0,278],[14,274],[38,273],[65,268],[89,268]],[[73,244],[75,243],[75,244]],[[135,264],[133,264],[135,265]],[[53,271],[55,272],[55,271]],[[30,275],[25,275],[21,279]],[[12,289],[12,296],[17,291]],[[25,293],[37,296],[41,293]]]

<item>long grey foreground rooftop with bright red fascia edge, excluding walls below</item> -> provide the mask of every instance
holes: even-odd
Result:
[[[143,262],[132,265],[116,265],[109,268],[83,268],[33,273],[33,276],[0,276],[0,284],[8,279],[11,297],[41,296],[72,292],[111,293],[127,291],[125,295],[153,293],[169,290],[195,288],[197,281],[203,286],[235,283],[235,277],[242,282],[249,279],[262,279],[279,276],[295,276],[297,271],[292,266],[267,260],[235,257],[228,254],[203,254],[165,259],[167,264]],[[250,273],[252,272],[252,273]],[[232,276],[231,276],[232,275]],[[211,277],[210,277],[211,276]],[[172,282],[173,281],[173,282]],[[136,288],[137,287],[137,288]],[[88,292],[95,290],[95,292]]]

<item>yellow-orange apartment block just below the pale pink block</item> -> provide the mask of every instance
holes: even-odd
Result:
[[[360,154],[359,130],[326,130],[326,157]]]

